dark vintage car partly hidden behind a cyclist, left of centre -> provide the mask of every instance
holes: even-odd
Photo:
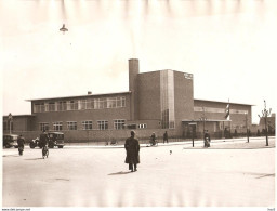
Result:
[[[49,148],[54,148],[55,146],[57,146],[58,148],[63,148],[64,147],[64,133],[62,132],[48,132],[48,136],[49,136]],[[42,148],[42,143],[40,142],[39,137],[32,140],[29,144],[30,148],[35,148],[35,147],[40,147]]]

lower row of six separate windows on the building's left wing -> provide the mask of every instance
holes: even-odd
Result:
[[[120,130],[123,129],[126,124],[126,120],[124,119],[116,119],[114,120],[114,129],[116,130]],[[82,128],[81,130],[92,130],[92,120],[87,120],[87,121],[82,121]],[[41,131],[45,130],[50,130],[50,123],[49,122],[40,122],[39,123],[39,129]],[[107,120],[98,120],[97,121],[97,130],[107,130],[108,129],[108,121]],[[78,124],[77,121],[67,121],[66,122],[66,128],[64,128],[64,124],[62,121],[56,121],[53,122],[53,130],[54,131],[62,131],[62,130],[78,130]]]

